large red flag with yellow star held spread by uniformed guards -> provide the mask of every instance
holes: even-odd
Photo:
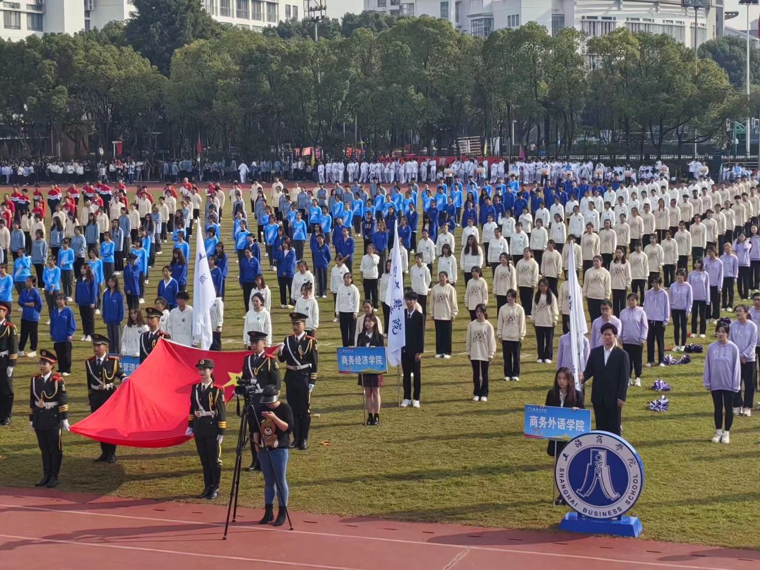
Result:
[[[267,349],[272,355],[277,347]],[[216,352],[160,340],[150,356],[96,412],[71,431],[98,442],[138,448],[165,448],[188,438],[190,389],[198,382],[195,363],[214,360],[214,384],[233,399],[242,361],[248,352]]]

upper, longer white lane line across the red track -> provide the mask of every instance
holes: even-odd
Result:
[[[113,518],[128,518],[135,521],[158,521],[158,522],[172,522],[172,523],[184,523],[184,524],[195,524],[199,526],[205,526],[205,527],[224,527],[223,523],[209,523],[209,522],[201,522],[201,521],[186,521],[183,519],[176,519],[176,518],[154,518],[154,517],[137,517],[134,515],[116,515],[113,513],[103,513],[103,512],[89,512],[89,511],[71,511],[71,510],[64,510],[64,509],[58,509],[58,508],[46,508],[46,507],[30,507],[26,505],[6,505],[3,503],[0,503],[0,507],[6,507],[6,508],[25,508],[30,511],[45,511],[45,512],[58,512],[58,513],[65,513],[67,515],[87,515],[87,516],[93,516],[93,517],[113,517]],[[336,534],[336,533],[320,533],[320,532],[312,532],[309,530],[287,530],[287,529],[276,529],[274,527],[267,527],[267,526],[248,526],[245,524],[235,524],[236,529],[245,528],[247,530],[259,530],[263,532],[284,532],[287,534],[306,534],[309,536],[315,536],[315,537],[331,537],[331,538],[344,538],[349,540],[376,540],[378,542],[388,542],[388,543],[401,543],[401,544],[416,544],[419,546],[439,546],[444,548],[456,548],[456,549],[470,549],[470,550],[485,550],[488,552],[497,552],[497,553],[512,553],[512,554],[528,554],[532,556],[549,556],[552,558],[572,558],[572,559],[581,559],[581,560],[594,560],[597,562],[618,562],[619,564],[638,564],[638,565],[644,565],[644,566],[657,566],[659,568],[690,568],[691,570],[733,570],[733,568],[724,568],[722,566],[692,566],[692,565],[685,565],[685,564],[670,564],[668,562],[644,562],[640,560],[623,560],[623,559],[614,559],[614,558],[603,558],[601,556],[582,556],[580,554],[561,554],[561,553],[546,553],[546,552],[538,552],[534,550],[520,550],[520,549],[511,549],[511,548],[496,548],[492,546],[477,546],[477,545],[458,545],[458,544],[445,544],[445,543],[430,543],[425,542],[423,540],[403,540],[399,538],[382,538],[382,537],[359,537],[359,536],[353,536],[350,534]],[[3,536],[3,535],[0,535]],[[46,539],[38,539],[38,540],[46,540]],[[77,543],[80,544],[80,543]],[[90,543],[83,543],[83,544],[90,544]],[[211,556],[211,555],[209,555]]]

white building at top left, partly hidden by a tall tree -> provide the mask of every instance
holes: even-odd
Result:
[[[280,21],[302,19],[301,0],[201,0],[214,20],[261,31]],[[132,0],[21,0],[2,2],[0,38],[23,40],[33,33],[77,33],[103,28],[136,14]]]

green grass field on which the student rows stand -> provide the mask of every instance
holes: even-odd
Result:
[[[226,249],[231,251],[229,233],[230,224],[223,223]],[[195,247],[195,237],[192,244]],[[147,301],[154,297],[159,268],[168,262],[169,251],[164,246],[151,271]],[[307,258],[310,260],[310,255]],[[486,277],[489,273],[486,271]],[[236,267],[230,264],[223,332],[228,350],[241,349],[243,312],[236,275]],[[279,308],[274,274],[268,272],[267,276],[273,292],[274,337],[281,339],[290,331],[287,310]],[[358,282],[357,287],[361,290]],[[448,360],[432,357],[435,333],[428,323],[422,407],[397,407],[391,372],[382,389],[385,401],[382,426],[378,427],[363,426],[363,401],[356,378],[336,372],[340,331],[331,322],[332,299],[320,299],[321,372],[312,394],[312,414],[318,417],[312,420],[309,451],[291,454],[291,508],[493,527],[549,529],[559,522],[565,510],[551,506],[553,462],[546,454],[546,443],[522,435],[523,406],[543,404],[553,382],[554,365],[535,362],[535,337],[529,329],[523,345],[521,382],[502,382],[499,350],[492,363],[489,401],[471,401],[471,369],[464,356],[467,312],[463,287],[460,276],[461,312],[454,324],[454,356]],[[45,313],[46,309],[43,322]],[[17,315],[14,312],[15,319]],[[105,333],[100,320],[97,331]],[[559,334],[558,327],[555,347]],[[67,380],[72,423],[89,413],[83,363],[91,349],[78,341],[80,336],[75,336],[74,372]],[[670,327],[666,340],[672,344]],[[699,340],[708,344],[713,339],[708,334],[708,338],[692,341]],[[40,347],[52,345],[45,339]],[[704,356],[698,354],[686,366],[644,369],[643,386],[629,389],[623,435],[641,454],[646,473],[644,493],[633,513],[641,518],[648,539],[757,548],[760,539],[750,521],[760,509],[760,491],[754,487],[760,473],[760,419],[737,418],[730,445],[711,443],[712,404],[702,387],[703,363]],[[20,359],[14,421],[0,428],[0,485],[31,486],[40,477],[40,455],[26,418],[28,378],[35,371],[33,359]],[[648,389],[656,378],[673,386],[667,413],[646,409],[647,402],[657,395]],[[237,426],[235,420],[230,422],[230,435],[223,445],[225,470],[218,502],[228,497]],[[192,442],[158,450],[122,448],[119,461],[106,465],[91,462],[100,453],[97,442],[67,433],[64,451],[60,489],[185,500],[202,486]],[[246,506],[262,504],[260,474],[242,473],[240,498]]]

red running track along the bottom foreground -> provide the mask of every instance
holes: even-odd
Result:
[[[559,518],[559,510],[558,510]],[[291,514],[295,530],[258,526],[242,508],[222,532],[226,507],[0,488],[0,567],[486,568],[760,567],[760,553],[562,533]],[[645,524],[645,521],[644,521]]]

